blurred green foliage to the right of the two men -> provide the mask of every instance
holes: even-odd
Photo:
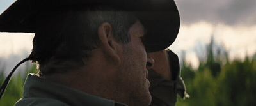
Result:
[[[207,62],[200,61],[197,70],[183,63],[181,76],[190,98],[179,99],[176,106],[256,105],[256,54],[251,60],[246,57],[230,62],[227,51],[224,56],[220,52],[214,56],[212,43],[208,45]]]

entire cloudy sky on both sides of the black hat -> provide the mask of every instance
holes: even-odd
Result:
[[[0,0],[2,13],[13,0]],[[243,59],[256,52],[255,0],[175,0],[181,26],[177,39],[169,48],[198,67],[199,54],[213,36],[216,45],[228,50],[230,59]],[[15,64],[28,57],[34,34],[0,33],[0,66],[12,70]],[[24,65],[24,64],[23,64]],[[22,67],[22,66],[21,66]],[[19,69],[18,69],[19,70]],[[9,71],[8,71],[9,72]]]

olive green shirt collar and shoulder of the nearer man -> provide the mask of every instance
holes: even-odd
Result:
[[[122,105],[113,100],[93,96],[67,86],[41,79],[29,74],[24,84],[24,93],[15,106],[80,106],[80,105]],[[124,106],[124,105],[122,105]]]

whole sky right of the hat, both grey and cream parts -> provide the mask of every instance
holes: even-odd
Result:
[[[244,59],[256,52],[255,0],[175,0],[181,26],[170,48],[186,51],[188,62],[198,66],[196,51],[209,44],[211,36],[228,50],[230,59]],[[203,54],[203,53],[202,53]],[[179,55],[180,56],[180,55]]]

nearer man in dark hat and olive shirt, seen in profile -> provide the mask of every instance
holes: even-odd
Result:
[[[28,75],[16,105],[143,106],[151,101],[146,63],[154,65],[146,50],[173,43],[179,12],[169,0],[18,0],[0,24],[35,33],[28,59],[39,73]]]

